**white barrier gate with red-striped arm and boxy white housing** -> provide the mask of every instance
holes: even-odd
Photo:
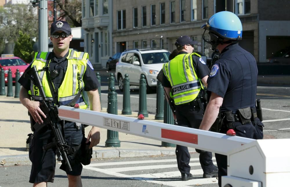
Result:
[[[68,106],[59,107],[59,118],[227,155],[223,187],[290,186],[290,139],[254,140]]]

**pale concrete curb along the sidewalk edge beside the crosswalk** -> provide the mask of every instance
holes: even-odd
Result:
[[[195,153],[195,151],[189,151]],[[113,150],[93,150],[92,159],[106,158],[133,158],[145,156],[174,156],[173,150],[131,150],[131,149],[113,149]],[[31,165],[28,155],[9,155],[0,156],[0,167]]]

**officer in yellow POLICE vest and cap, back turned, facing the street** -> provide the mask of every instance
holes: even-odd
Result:
[[[204,113],[204,86],[209,75],[209,68],[200,55],[193,53],[193,41],[188,36],[179,37],[175,46],[178,54],[163,66],[162,86],[175,103],[177,124],[179,126],[199,128]],[[200,153],[203,177],[214,177],[218,168],[213,165],[212,153],[196,150]],[[193,178],[190,173],[190,154],[185,146],[176,145],[177,166],[181,180]]]

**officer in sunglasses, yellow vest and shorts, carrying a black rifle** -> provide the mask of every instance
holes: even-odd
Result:
[[[88,60],[88,54],[69,50],[69,44],[73,38],[69,24],[66,21],[53,22],[50,35],[53,44],[52,52],[36,52],[34,60],[27,70],[33,66],[37,67],[44,92],[47,98],[54,100],[55,103],[58,102],[59,105],[78,104],[79,108],[86,109],[88,101],[80,94],[81,90],[84,89],[90,99],[91,110],[101,111],[98,93],[99,83],[94,74],[93,66]],[[33,120],[38,123],[36,125],[44,123],[46,114],[39,108],[39,101],[42,100],[42,97],[38,88],[27,76],[21,76],[19,83],[22,85],[19,95],[21,103],[28,109]],[[71,148],[80,145],[81,141],[85,139],[81,124],[70,121],[64,121],[62,124],[67,145]],[[53,137],[50,125],[44,126],[33,134],[29,148],[29,158],[32,162],[29,182],[34,183],[33,186],[47,186],[47,182],[54,181],[55,148],[42,149],[43,146],[53,141]],[[86,143],[89,141],[91,141],[89,148],[99,144],[99,128],[93,127],[90,130]],[[76,150],[73,155],[68,155],[72,171],[69,171],[64,163],[60,166],[62,170],[66,171],[68,186],[82,185],[82,165],[76,159],[76,155],[81,154],[80,150]]]

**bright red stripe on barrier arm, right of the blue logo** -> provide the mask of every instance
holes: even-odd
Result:
[[[195,134],[180,132],[176,130],[161,129],[161,137],[167,139],[173,139],[178,141],[184,141],[192,144],[198,144],[198,137]]]

